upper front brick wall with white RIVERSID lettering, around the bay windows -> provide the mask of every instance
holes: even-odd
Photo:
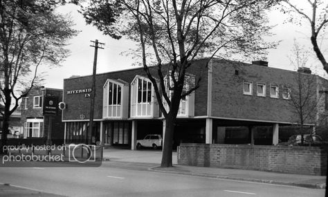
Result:
[[[207,113],[207,83],[208,83],[208,68],[206,68],[206,59],[201,59],[194,62],[188,68],[187,73],[193,74],[196,77],[201,77],[200,88],[195,91],[194,97],[194,115],[206,115]],[[151,68],[151,73],[154,77],[157,76],[157,68]],[[162,68],[165,72],[165,68]],[[147,76],[143,68],[129,69],[125,71],[116,71],[111,73],[101,73],[96,75],[95,79],[95,111],[93,117],[95,119],[102,119],[102,100],[103,100],[103,86],[107,79],[122,79],[131,84],[136,75]],[[90,97],[85,97],[84,93],[67,94],[67,91],[80,90],[91,88],[91,75],[83,77],[75,77],[64,79],[64,102],[67,104],[67,109],[64,110],[63,120],[80,120],[89,119],[90,113]],[[92,92],[91,92],[92,93]],[[131,96],[131,86],[129,86],[129,102]],[[77,102],[78,101],[78,102]],[[130,106],[130,104],[129,104]],[[129,109],[130,113],[130,109]],[[158,115],[161,115],[158,112]]]

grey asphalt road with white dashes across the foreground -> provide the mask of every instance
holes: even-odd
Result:
[[[325,190],[149,171],[153,164],[0,168],[0,182],[63,196],[325,196]],[[0,195],[1,196],[1,195]]]

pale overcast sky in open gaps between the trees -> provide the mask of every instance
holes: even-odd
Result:
[[[57,10],[62,14],[70,13],[75,22],[73,28],[80,30],[80,33],[69,41],[67,48],[71,50],[71,55],[62,63],[61,67],[49,68],[44,66],[39,69],[39,73],[43,73],[42,75],[45,78],[44,86],[48,88],[63,88],[63,79],[72,75],[92,75],[94,48],[90,45],[92,45],[91,41],[95,41],[95,39],[105,44],[104,49],[98,49],[97,73],[136,67],[132,65],[135,62],[134,59],[124,54],[130,48],[134,48],[134,43],[126,39],[116,40],[102,35],[102,32],[97,28],[86,25],[84,18],[77,10],[77,6],[70,4],[61,6]],[[292,55],[291,50],[294,39],[311,51],[310,30],[304,28],[304,26],[300,27],[285,23],[287,16],[279,10],[271,11],[268,13],[268,17],[270,24],[275,26],[271,31],[273,36],[269,37],[268,41],[280,41],[277,48],[268,50],[268,66],[295,71],[295,66],[291,65],[289,59]],[[327,40],[322,42],[322,49],[327,54]],[[307,67],[310,67],[318,75],[324,75],[325,73],[322,70],[322,65],[314,55],[309,55]]]

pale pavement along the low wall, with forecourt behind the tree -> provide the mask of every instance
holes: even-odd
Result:
[[[161,156],[161,150],[153,151],[150,149],[144,149],[140,151],[131,151],[122,149],[105,149],[103,158],[105,161],[154,164],[154,167],[149,167],[149,170],[163,173],[176,173],[188,176],[202,176],[208,178],[220,178],[250,182],[264,182],[275,185],[289,185],[313,189],[326,188],[326,176],[178,165],[176,152],[173,152],[172,154],[172,164],[174,167],[163,168],[158,167],[161,164]]]

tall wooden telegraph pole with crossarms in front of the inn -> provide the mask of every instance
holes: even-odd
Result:
[[[91,144],[92,142],[92,130],[93,130],[93,111],[95,107],[95,70],[97,68],[97,56],[98,56],[98,48],[102,48],[100,45],[104,45],[104,43],[98,42],[98,39],[95,41],[91,41],[94,45],[90,45],[95,48],[95,56],[93,58],[93,73],[92,73],[92,92],[91,92],[91,102],[90,102],[90,122],[88,129],[88,138],[86,139],[86,144]],[[104,49],[104,48],[102,48]]]

